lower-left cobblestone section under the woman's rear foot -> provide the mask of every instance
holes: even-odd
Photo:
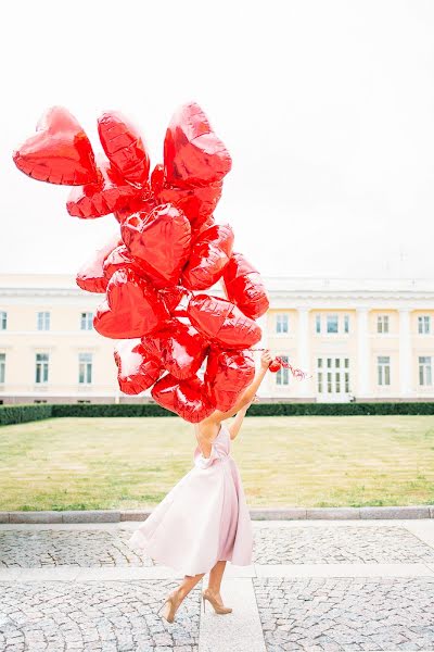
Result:
[[[197,588],[173,624],[156,614],[175,586],[170,580],[3,586],[0,650],[197,652]]]

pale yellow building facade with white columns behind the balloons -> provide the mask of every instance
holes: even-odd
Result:
[[[434,399],[434,279],[264,280],[270,309],[256,348],[309,377],[269,373],[261,399]],[[209,291],[222,297],[218,285]],[[0,275],[1,402],[138,400],[117,387],[115,342],[93,330],[101,300],[72,276]]]

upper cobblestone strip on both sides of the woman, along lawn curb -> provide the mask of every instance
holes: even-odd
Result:
[[[0,568],[153,566],[127,543],[131,531],[0,530]],[[434,549],[404,527],[303,526],[254,530],[256,564],[434,563]]]

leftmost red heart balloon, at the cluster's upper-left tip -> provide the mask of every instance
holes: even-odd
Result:
[[[89,138],[63,106],[49,109],[31,136],[16,150],[18,170],[39,181],[82,186],[98,180]]]

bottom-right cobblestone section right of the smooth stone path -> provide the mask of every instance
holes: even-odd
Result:
[[[434,577],[253,584],[267,652],[434,650]]]

